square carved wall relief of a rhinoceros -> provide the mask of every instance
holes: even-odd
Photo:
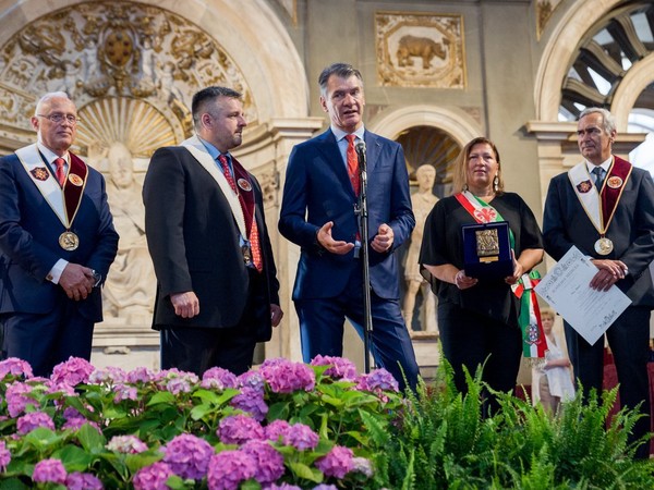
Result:
[[[461,15],[378,12],[375,26],[382,85],[465,88]]]

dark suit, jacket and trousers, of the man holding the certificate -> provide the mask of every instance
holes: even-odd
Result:
[[[621,260],[629,268],[619,287],[632,301],[625,313],[606,332],[611,347],[618,380],[620,402],[634,407],[643,402],[642,412],[650,414],[647,379],[650,311],[654,307],[654,289],[649,265],[654,259],[654,183],[649,172],[634,168],[621,194],[606,237],[614,244],[613,252],[600,256],[594,248],[600,233],[586,216],[567,173],[549,183],[543,218],[545,250],[559,260],[572,245],[582,254],[595,259]],[[566,339],[574,377],[584,391],[602,391],[604,342],[600,339],[590,345],[566,323]],[[634,428],[637,437],[650,427],[649,418],[641,419]],[[649,448],[641,451],[646,456]]]

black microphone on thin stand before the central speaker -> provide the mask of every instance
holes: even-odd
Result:
[[[363,266],[363,366],[365,373],[371,372],[371,339],[373,332],[373,314],[371,310],[371,265],[368,257],[368,212],[367,212],[367,171],[365,143],[356,144],[359,160],[359,204],[354,213],[359,216],[361,234],[361,264]]]

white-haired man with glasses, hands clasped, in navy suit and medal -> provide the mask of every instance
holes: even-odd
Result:
[[[70,356],[90,359],[118,234],[102,175],[69,151],[73,101],[47,94],[31,122],[38,142],[0,159],[0,319],[3,354],[49,376]]]

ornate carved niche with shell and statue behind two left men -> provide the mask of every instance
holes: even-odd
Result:
[[[192,96],[209,85],[242,91],[246,119],[257,124],[244,75],[214,38],[169,11],[134,2],[88,1],[51,12],[0,48],[0,134],[16,148],[33,143],[29,117],[38,98],[66,91],[82,120],[74,150],[106,174],[120,234],[104,290],[109,323],[150,322],[155,275],[143,177],[155,149],[190,135]]]

